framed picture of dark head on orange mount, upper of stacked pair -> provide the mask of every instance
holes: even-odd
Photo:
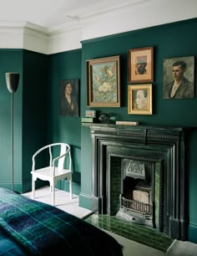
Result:
[[[154,47],[129,49],[129,83],[154,81]]]

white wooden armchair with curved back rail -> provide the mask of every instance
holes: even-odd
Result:
[[[59,152],[58,156],[54,157],[54,148],[59,147],[56,150]],[[36,169],[36,161],[35,158],[42,151],[48,151],[49,153],[49,166]],[[65,178],[69,181],[69,192],[70,199],[73,197],[72,192],[72,171],[71,171],[71,152],[70,146],[67,143],[53,143],[47,146],[43,146],[38,151],[33,154],[32,157],[33,166],[32,166],[32,198],[35,198],[35,182],[38,179],[43,181],[48,181],[50,184],[51,192],[53,193],[53,205],[55,205],[55,185],[59,180],[63,180]],[[68,160],[68,169],[64,169],[64,162]]]

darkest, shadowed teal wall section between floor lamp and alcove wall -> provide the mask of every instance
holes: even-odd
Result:
[[[23,192],[32,187],[33,153],[48,144],[49,93],[48,56],[23,50]]]

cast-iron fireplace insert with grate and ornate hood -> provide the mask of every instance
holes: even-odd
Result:
[[[122,162],[119,211],[116,215],[156,228],[154,164],[127,158],[122,159]],[[113,163],[111,166],[114,166]]]

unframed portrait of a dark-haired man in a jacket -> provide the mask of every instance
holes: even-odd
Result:
[[[164,59],[164,99],[194,99],[194,56]]]

